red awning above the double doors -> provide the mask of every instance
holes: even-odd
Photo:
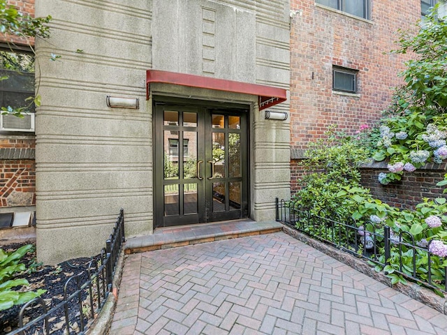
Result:
[[[252,94],[259,97],[259,110],[277,105],[287,100],[286,90],[278,89],[247,82],[235,82],[200,75],[187,75],[186,73],[175,73],[160,70],[146,71],[146,94],[149,100],[149,84],[151,82],[162,82],[164,84],[175,84],[199,89],[216,89],[234,93]]]

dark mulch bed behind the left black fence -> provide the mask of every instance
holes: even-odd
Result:
[[[34,244],[34,241],[28,241],[24,243],[10,244],[3,246],[4,251],[15,251],[20,246],[25,244]],[[34,248],[35,249],[35,248]],[[31,249],[33,250],[33,249]],[[75,258],[66,262],[61,262],[58,265],[40,265],[36,263],[36,252],[32,251],[24,255],[22,263],[27,266],[28,271],[20,274],[17,278],[25,278],[29,281],[31,290],[37,290],[38,288],[47,290],[41,297],[45,301],[47,310],[50,310],[64,299],[64,285],[68,278],[75,275],[80,275],[80,285],[87,281],[87,265],[93,258]],[[98,256],[95,257],[98,260]],[[71,295],[77,289],[75,281],[67,286],[67,295]],[[96,295],[96,291],[94,291]],[[82,291],[82,301],[84,311],[80,311],[78,298],[68,301],[68,319],[70,334],[76,334],[80,331],[80,313],[83,313],[85,324],[91,319],[90,304],[89,304],[89,292],[88,290]],[[0,335],[8,334],[18,328],[19,325],[19,313],[22,306],[13,306],[6,311],[0,311]],[[96,308],[96,306],[95,306]],[[43,309],[38,306],[34,308],[27,308],[24,313],[24,324],[38,318],[42,315]],[[66,322],[64,308],[59,308],[57,312],[50,315],[49,328],[51,334],[66,334]],[[43,323],[40,325],[34,325],[30,329],[27,329],[26,334],[45,334],[43,331]]]

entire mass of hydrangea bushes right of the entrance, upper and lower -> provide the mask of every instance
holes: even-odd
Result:
[[[360,185],[357,169],[368,148],[372,148],[374,160],[388,161],[388,173],[379,174],[381,184],[447,159],[447,22],[430,13],[418,29],[416,36],[401,32],[400,49],[394,52],[412,52],[417,57],[406,63],[402,73],[406,84],[396,90],[380,126],[370,132],[368,126],[362,126],[344,140],[334,141],[332,137],[331,141],[328,136],[327,141],[314,144],[304,163],[309,174],[293,201],[319,216],[324,211],[325,217],[337,221],[355,221],[363,247],[376,243],[382,253],[379,260],[389,262],[383,270],[392,283],[405,282],[395,274],[401,264],[404,273],[413,276],[416,267],[416,277],[427,281],[430,253],[432,283],[442,288],[447,267],[446,199],[424,199],[413,210],[390,207]],[[361,154],[356,155],[356,150]],[[447,186],[447,174],[437,185]],[[391,228],[388,260],[383,255],[383,241],[377,236],[375,241],[371,238],[385,225]]]

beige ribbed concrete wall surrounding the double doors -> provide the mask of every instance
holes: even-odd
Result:
[[[145,70],[288,89],[288,10],[286,0],[36,0],[36,15],[54,18],[52,38],[36,43],[39,260],[97,253],[120,207],[126,234],[152,232]],[[61,58],[51,61],[52,53]],[[171,87],[166,94],[186,91]],[[140,98],[140,109],[108,108],[107,95]],[[219,98],[209,90],[199,96]],[[251,216],[263,220],[274,217],[274,197],[289,193],[289,133],[287,121],[265,121],[254,98],[244,98],[253,106]],[[288,103],[272,110],[288,111]]]

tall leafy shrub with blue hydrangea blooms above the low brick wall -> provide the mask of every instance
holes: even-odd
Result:
[[[437,7],[418,23],[416,35],[400,31],[400,47],[393,51],[416,57],[405,63],[405,84],[396,90],[381,121],[373,158],[390,162],[390,172],[379,177],[382,184],[447,158],[447,22],[436,13]]]

